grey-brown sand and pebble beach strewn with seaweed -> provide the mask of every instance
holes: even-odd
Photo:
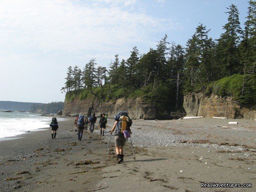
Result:
[[[113,123],[109,119],[107,128]],[[128,140],[124,162],[117,164],[112,136],[108,166],[109,133],[101,137],[98,130],[85,131],[79,141],[73,124],[73,118],[60,121],[57,139],[44,129],[0,140],[0,191],[255,191],[254,120],[134,120],[135,160]],[[201,188],[201,183],[252,188]]]

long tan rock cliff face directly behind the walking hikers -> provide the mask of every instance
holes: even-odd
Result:
[[[64,115],[84,114],[89,116],[92,112],[96,115],[107,113],[113,118],[119,111],[126,111],[132,119],[155,119],[155,106],[137,99],[117,99],[115,102],[99,102],[97,99],[74,99],[64,103]]]

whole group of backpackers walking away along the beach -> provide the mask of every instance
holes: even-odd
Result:
[[[132,119],[129,118],[128,113],[126,112],[119,112],[115,117],[115,123],[110,131],[110,140],[111,135],[115,131],[115,152],[116,152],[116,158],[118,160],[118,163],[123,162],[123,146],[125,145],[126,140],[130,137],[131,129],[130,126],[132,125]],[[88,129],[89,132],[94,132],[94,126],[97,121],[97,118],[95,117],[95,113],[92,113],[89,118],[85,118],[84,115],[79,115],[75,118],[74,124],[75,124],[75,130],[78,132],[78,139],[81,141],[83,131],[84,129]],[[101,130],[102,136],[104,136],[106,124],[108,122],[108,115],[105,113],[101,114],[101,118],[99,120],[99,128]],[[56,131],[59,128],[58,122],[56,118],[52,119],[52,122],[50,124],[52,127],[52,139],[56,138]],[[110,146],[110,140],[109,140],[109,146]],[[108,146],[108,149],[109,149]]]

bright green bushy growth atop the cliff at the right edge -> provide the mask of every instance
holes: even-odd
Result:
[[[245,74],[244,76],[244,91],[243,75],[235,74],[229,77],[219,79],[210,83],[206,88],[206,94],[214,93],[218,96],[231,96],[233,100],[243,105],[256,104],[256,75]]]

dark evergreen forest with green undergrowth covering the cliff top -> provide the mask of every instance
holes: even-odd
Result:
[[[135,46],[127,60],[116,54],[109,68],[98,66],[96,59],[82,69],[69,66],[61,91],[67,101],[140,97],[159,112],[182,110],[183,95],[192,92],[232,96],[241,105],[255,105],[256,1],[249,1],[243,29],[235,5],[225,13],[228,22],[217,40],[200,23],[186,47],[168,42],[165,35],[148,53],[139,53]]]

